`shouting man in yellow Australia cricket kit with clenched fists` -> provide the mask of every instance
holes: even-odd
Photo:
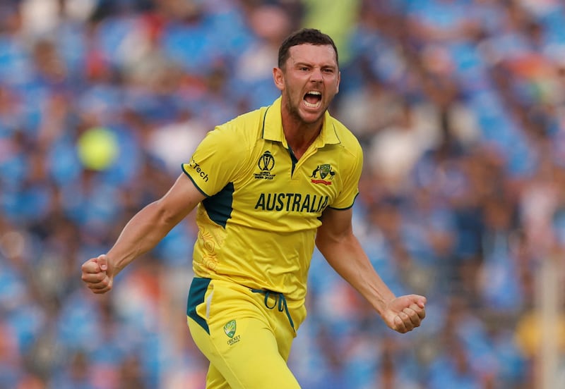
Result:
[[[362,150],[327,112],[340,84],[332,39],[311,29],[287,37],[273,79],[280,98],[209,132],[169,192],[82,266],[88,288],[111,290],[198,205],[187,321],[210,360],[206,388],[299,388],[287,358],[314,243],[388,327],[412,331],[425,316],[425,297],[395,297],[352,233]]]

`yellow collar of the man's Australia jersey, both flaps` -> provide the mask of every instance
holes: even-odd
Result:
[[[273,104],[267,107],[263,118],[263,139],[282,142],[285,147],[288,146],[283,132],[283,119],[280,113],[281,97],[276,99]],[[335,123],[330,113],[324,113],[323,125],[320,135],[315,140],[317,147],[323,147],[326,144],[339,144],[340,139],[335,130]]]

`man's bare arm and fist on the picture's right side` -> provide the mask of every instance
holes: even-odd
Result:
[[[426,316],[426,297],[396,297],[374,270],[352,230],[352,209],[326,209],[316,235],[316,247],[335,271],[350,283],[399,333],[420,326]]]

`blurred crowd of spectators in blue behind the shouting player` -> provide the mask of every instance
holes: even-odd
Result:
[[[81,264],[208,130],[278,97],[278,46],[303,26],[340,50],[331,113],[366,160],[355,232],[429,305],[393,333],[316,252],[302,387],[565,388],[560,0],[2,0],[0,388],[204,388],[192,216],[109,295]]]

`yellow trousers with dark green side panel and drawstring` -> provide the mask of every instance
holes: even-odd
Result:
[[[194,342],[210,361],[206,389],[300,388],[287,366],[306,317],[283,295],[194,278],[186,309]]]

